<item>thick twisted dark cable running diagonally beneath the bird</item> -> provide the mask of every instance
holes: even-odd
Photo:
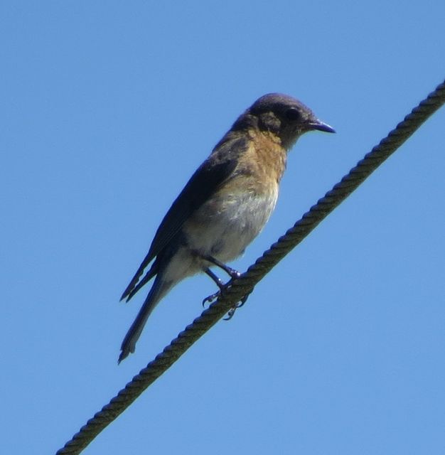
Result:
[[[318,202],[306,212],[301,220],[297,221],[286,234],[269,248],[262,257],[259,257],[247,272],[239,279],[232,282],[232,286],[219,297],[218,301],[210,305],[208,309],[196,318],[193,323],[171,341],[156,355],[146,368],[120,390],[116,397],[112,398],[108,405],[102,407],[92,419],[88,420],[78,433],[70,439],[65,446],[57,452],[57,455],[80,454],[97,434],[116,419],[119,414],[141,395],[159,376],[178,360],[183,353],[197,341],[200,336],[208,331],[227,311],[242,299],[242,296],[252,291],[255,284],[266,275],[272,267],[287,255],[301,240],[309,235],[326,216],[332,212],[360,183],[365,181],[380,164],[385,161],[395,150],[406,141],[428,117],[436,112],[445,102],[445,82],[436,87],[428,97],[412,109],[400,124],[390,134],[380,141],[364,159],[360,160],[350,172],[338,182],[331,191],[318,200]]]

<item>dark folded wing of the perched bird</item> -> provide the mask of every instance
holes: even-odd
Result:
[[[222,141],[193,173],[159,225],[149,252],[122,294],[121,300],[129,296],[144,273],[144,269],[168,245],[186,220],[227,181],[237,166],[240,154],[247,149],[247,146],[248,141],[245,138]]]

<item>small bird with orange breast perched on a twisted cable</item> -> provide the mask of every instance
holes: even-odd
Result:
[[[121,301],[129,301],[154,279],[124,337],[118,363],[134,353],[151,311],[178,282],[204,272],[223,290],[211,267],[232,279],[240,275],[226,263],[242,255],[267,223],[289,150],[314,130],[335,132],[309,107],[281,93],[259,97],[237,118],[174,200],[122,294]]]

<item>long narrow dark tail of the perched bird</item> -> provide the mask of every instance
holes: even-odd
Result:
[[[134,319],[132,326],[129,328],[124,341],[122,341],[121,353],[117,363],[121,363],[122,360],[129,355],[129,353],[134,353],[136,341],[138,341],[139,336],[141,336],[142,329],[145,326],[146,320],[149,319],[151,311],[153,311],[154,307],[163,298],[163,296],[167,294],[173,284],[173,282],[163,279],[162,274],[157,275],[153,286],[149,291],[149,295],[146,296],[142,308],[136,316],[136,319]]]

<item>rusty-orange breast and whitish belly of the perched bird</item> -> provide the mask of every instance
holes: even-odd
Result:
[[[257,237],[277,203],[286,151],[277,138],[250,132],[232,176],[183,225],[188,247],[228,262]]]

